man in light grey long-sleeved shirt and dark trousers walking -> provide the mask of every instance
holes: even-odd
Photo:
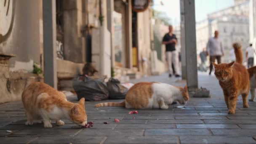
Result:
[[[209,38],[207,43],[207,55],[210,55],[209,75],[211,75],[211,71],[213,69],[212,62],[215,62],[215,59],[217,59],[218,64],[220,64],[221,56],[224,56],[222,43],[221,43],[221,40],[219,40],[218,36],[219,36],[219,32],[216,30],[214,32],[214,37]]]

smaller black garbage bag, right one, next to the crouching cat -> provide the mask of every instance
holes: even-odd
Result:
[[[107,82],[109,90],[109,99],[125,99],[128,88],[120,84],[120,81],[115,78],[110,78]]]

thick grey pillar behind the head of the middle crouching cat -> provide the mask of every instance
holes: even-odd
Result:
[[[187,86],[190,90],[192,90],[194,88],[198,88],[195,30],[195,0],[181,0],[181,10],[184,10],[183,13],[181,13],[181,21],[184,21],[183,36],[185,39],[185,43],[183,44],[185,46],[186,53],[185,57]]]

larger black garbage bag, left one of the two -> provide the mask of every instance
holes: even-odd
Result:
[[[85,98],[86,101],[102,101],[109,99],[109,91],[106,83],[104,83],[104,78],[94,80],[86,76],[84,79],[78,77],[74,80],[73,88],[77,93],[78,100],[81,98]]]

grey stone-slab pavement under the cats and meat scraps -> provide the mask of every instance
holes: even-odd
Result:
[[[161,76],[141,78],[139,81],[175,83],[176,78]],[[102,107],[98,102],[85,102],[92,128],[81,129],[66,121],[63,126],[43,128],[42,124],[26,126],[20,101],[0,104],[1,144],[256,144],[256,102],[243,108],[241,97],[235,115],[228,115],[221,88],[214,76],[199,73],[199,85],[210,89],[211,98],[191,98],[184,108],[171,105],[168,110],[144,109],[129,115],[131,109]],[[69,97],[76,101],[76,97]],[[120,100],[111,100],[120,101]],[[134,119],[133,119],[134,117]],[[114,123],[118,118],[120,123]],[[103,124],[108,122],[109,124]],[[8,133],[8,131],[12,131]]]

